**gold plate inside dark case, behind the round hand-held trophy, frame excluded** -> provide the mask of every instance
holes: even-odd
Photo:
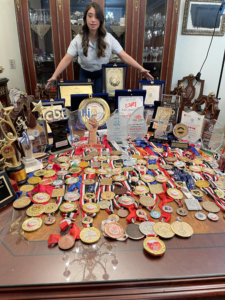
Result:
[[[65,106],[71,106],[71,95],[92,94],[92,85],[60,85],[60,95],[64,98]]]

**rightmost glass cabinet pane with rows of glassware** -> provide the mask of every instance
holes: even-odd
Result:
[[[160,80],[167,1],[146,0],[143,66]]]

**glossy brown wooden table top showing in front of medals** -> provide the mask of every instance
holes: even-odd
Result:
[[[174,222],[178,207],[175,202],[170,205]],[[0,211],[0,299],[196,299],[224,295],[223,212],[218,213],[218,222],[199,221],[194,214],[189,212],[182,220],[192,225],[195,234],[164,240],[164,256],[152,257],[143,250],[142,240],[118,242],[102,237],[94,245],[76,241],[70,251],[48,247],[49,235],[59,233],[60,212],[54,225],[43,224],[38,231],[27,233],[21,229],[26,209],[15,210],[9,205]],[[94,227],[100,229],[107,217],[101,210]],[[119,223],[124,228],[127,225],[122,218]],[[83,228],[81,213],[76,224]]]

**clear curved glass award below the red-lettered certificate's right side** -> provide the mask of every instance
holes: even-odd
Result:
[[[127,123],[128,135],[132,140],[144,139],[148,126],[144,118],[144,106],[137,108],[129,117]]]

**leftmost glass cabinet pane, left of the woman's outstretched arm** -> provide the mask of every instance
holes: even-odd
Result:
[[[55,71],[49,0],[28,0],[36,82],[45,86]]]

